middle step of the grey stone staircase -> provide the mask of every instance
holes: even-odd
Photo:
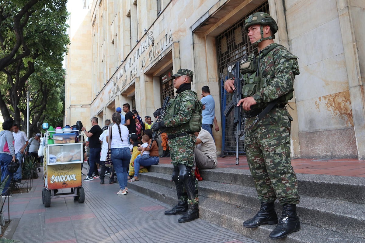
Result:
[[[148,172],[141,173],[139,178],[143,181],[168,188],[175,188],[175,183],[171,181],[171,176],[168,174]],[[199,196],[226,202],[231,205],[249,207],[256,211],[260,208],[260,203],[253,187],[203,180],[199,181],[198,192]],[[364,204],[306,195],[300,196],[297,213],[300,216],[301,222],[365,238]],[[276,208],[278,215],[281,215],[281,206],[278,202],[276,202]],[[344,225],[343,222],[346,222],[346,224]]]

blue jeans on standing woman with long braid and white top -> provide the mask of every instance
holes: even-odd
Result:
[[[113,168],[118,178],[120,190],[127,187],[128,180],[128,166],[131,160],[131,150],[127,148],[113,148],[111,149],[111,159]]]

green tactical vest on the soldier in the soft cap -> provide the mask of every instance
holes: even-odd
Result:
[[[184,96],[183,94],[186,92],[192,92],[195,96],[197,93],[195,93],[192,90],[185,90],[181,92],[180,94],[177,94],[173,99],[170,99],[167,108],[166,108],[166,114],[164,117],[164,120],[169,120],[175,115],[177,115],[178,109],[176,109],[177,105],[180,103],[179,101]],[[181,124],[178,128],[178,130],[184,130],[189,132],[200,132],[201,129],[201,122],[203,120],[203,117],[201,116],[201,111],[203,110],[203,104],[198,100],[197,105],[195,106],[193,113],[189,119],[189,122]],[[166,130],[166,133],[172,133],[172,131],[175,130],[174,128],[169,128]]]

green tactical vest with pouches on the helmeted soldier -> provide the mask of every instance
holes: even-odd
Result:
[[[260,89],[268,86],[268,83],[273,81],[272,78],[262,78],[261,68],[258,67],[259,59],[264,58],[270,51],[275,47],[281,46],[273,43],[269,48],[261,51],[258,58],[250,58],[241,64],[240,72],[243,74],[242,81],[242,96],[243,98],[249,97],[257,93]],[[258,71],[258,73],[257,73]],[[293,98],[293,92],[289,92],[278,99],[278,104],[286,104],[290,99]]]

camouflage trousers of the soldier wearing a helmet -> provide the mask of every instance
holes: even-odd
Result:
[[[245,130],[255,118],[246,119]],[[246,157],[261,202],[298,204],[297,177],[290,159],[291,121],[285,108],[272,109],[247,130]]]

